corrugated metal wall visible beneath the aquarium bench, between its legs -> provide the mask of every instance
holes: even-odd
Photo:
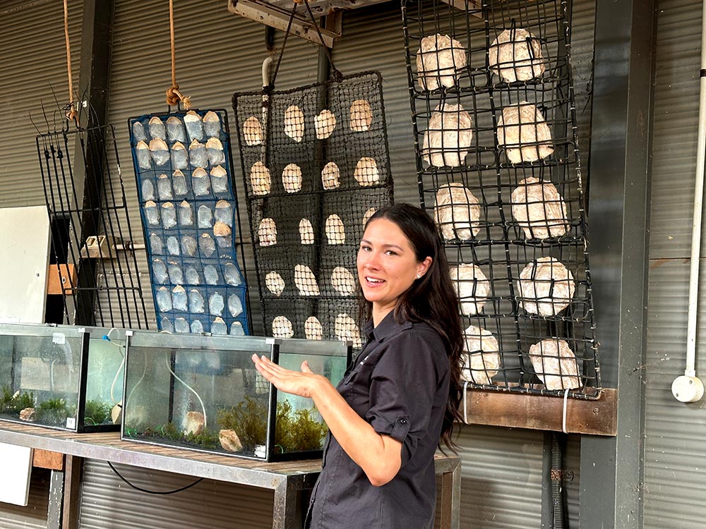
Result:
[[[133,485],[152,491],[177,490],[194,480],[187,475],[114,467]],[[146,494],[126,485],[104,461],[86,461],[79,527],[265,529],[272,527],[272,509],[270,490],[203,480],[177,494]]]

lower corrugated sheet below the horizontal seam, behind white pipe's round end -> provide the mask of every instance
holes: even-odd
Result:
[[[706,284],[702,268],[700,283]],[[652,261],[645,363],[644,527],[702,527],[706,518],[704,402],[683,404],[671,382],[686,363],[688,260]],[[696,372],[706,371],[706,292],[700,289]]]

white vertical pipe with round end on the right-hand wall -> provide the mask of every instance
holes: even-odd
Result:
[[[699,128],[696,145],[696,177],[694,183],[694,216],[691,224],[691,266],[689,271],[689,312],[686,323],[686,369],[671,385],[672,394],[682,402],[695,402],[704,393],[703,383],[696,377],[696,317],[699,296],[699,260],[701,255],[701,222],[703,217],[704,162],[706,161],[706,0],[701,11],[701,71],[699,77]]]

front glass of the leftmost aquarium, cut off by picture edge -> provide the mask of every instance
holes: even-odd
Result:
[[[0,419],[77,430],[86,337],[81,327],[0,324]]]

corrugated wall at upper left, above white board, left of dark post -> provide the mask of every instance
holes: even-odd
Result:
[[[82,9],[80,0],[68,2],[76,91]],[[64,5],[55,1],[3,2],[0,28],[0,94],[4,107],[0,122],[0,207],[42,205],[37,128],[42,133],[54,130],[55,120],[60,128],[59,107],[68,102]]]

